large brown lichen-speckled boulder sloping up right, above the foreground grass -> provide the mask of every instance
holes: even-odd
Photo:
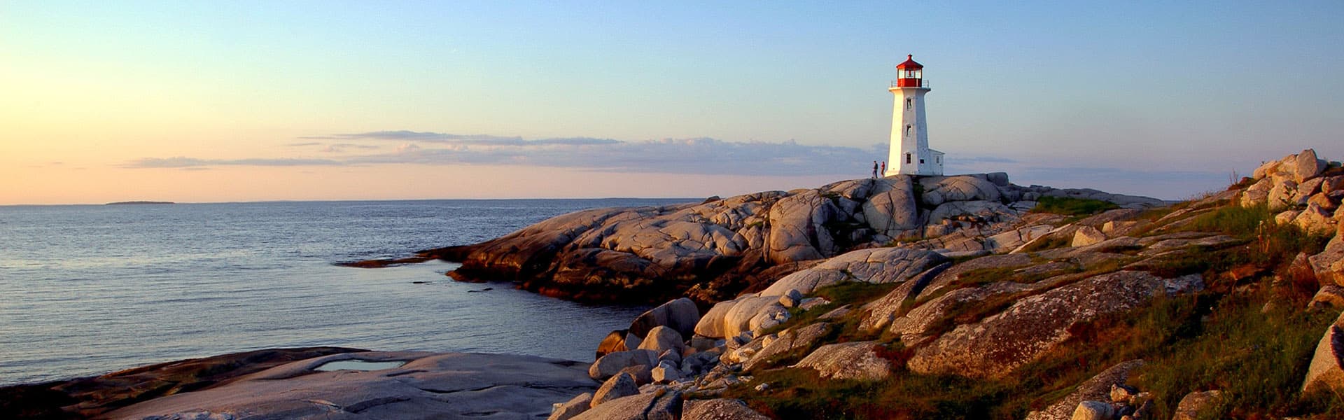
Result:
[[[915,350],[910,370],[1001,378],[1071,337],[1070,327],[1142,304],[1153,296],[1203,289],[1199,275],[1160,279],[1121,271],[1019,299],[997,315],[957,326]]]

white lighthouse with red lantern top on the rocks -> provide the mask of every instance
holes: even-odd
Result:
[[[891,110],[887,174],[883,175],[942,175],[942,152],[929,148],[923,106],[929,81],[923,79],[923,66],[914,55],[906,55],[906,62],[896,65],[896,79],[887,90],[896,101]]]

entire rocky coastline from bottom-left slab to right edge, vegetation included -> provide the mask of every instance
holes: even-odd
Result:
[[[1167,206],[1004,174],[560,215],[460,261],[657,307],[595,361],[293,349],[9,386],[26,419],[1337,419],[1344,168]],[[335,359],[406,361],[317,372]],[[19,404],[23,405],[23,404]]]

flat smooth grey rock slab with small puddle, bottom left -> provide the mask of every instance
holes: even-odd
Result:
[[[343,359],[406,361],[316,372]],[[544,419],[597,388],[586,363],[531,355],[367,351],[276,366],[223,386],[149,400],[105,419]]]

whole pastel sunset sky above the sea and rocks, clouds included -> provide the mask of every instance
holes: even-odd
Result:
[[[0,0],[0,205],[708,197],[949,174],[1184,199],[1344,159],[1344,1]]]

